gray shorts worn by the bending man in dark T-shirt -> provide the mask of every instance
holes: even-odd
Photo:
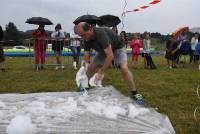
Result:
[[[120,48],[115,50],[114,54],[114,65],[119,66],[120,64],[127,64],[127,54],[126,48]],[[105,61],[105,54],[97,53],[95,56],[93,63],[97,65],[103,65]]]

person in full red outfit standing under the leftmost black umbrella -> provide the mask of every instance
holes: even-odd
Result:
[[[34,56],[35,56],[35,69],[44,69],[45,56],[46,56],[46,46],[48,33],[44,30],[44,25],[39,25],[32,33],[34,38]]]

